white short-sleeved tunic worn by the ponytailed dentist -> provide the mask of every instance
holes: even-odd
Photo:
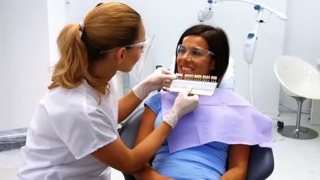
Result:
[[[90,153],[118,138],[116,77],[101,97],[86,80],[75,89],[57,87],[40,101],[21,148],[18,179],[110,179],[109,166]],[[107,155],[107,154],[106,154]]]

